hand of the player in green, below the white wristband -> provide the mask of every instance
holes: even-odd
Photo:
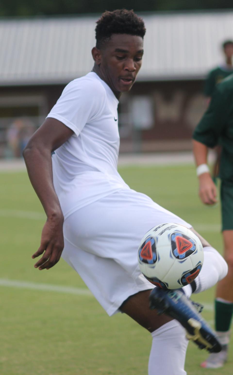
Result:
[[[217,203],[217,188],[209,173],[203,173],[199,176],[199,196],[205,204]]]

